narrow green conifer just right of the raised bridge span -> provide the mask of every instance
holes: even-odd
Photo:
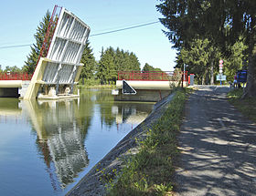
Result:
[[[84,66],[81,69],[80,78],[85,79],[91,79],[94,77],[96,67],[95,57],[93,56],[91,46],[89,45],[90,42],[87,41],[80,59],[80,62],[84,64]]]

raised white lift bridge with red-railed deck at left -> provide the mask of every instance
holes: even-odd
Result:
[[[33,75],[0,74],[0,97],[75,98],[90,27],[55,5]]]

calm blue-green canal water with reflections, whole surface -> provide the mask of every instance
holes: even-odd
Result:
[[[65,195],[152,108],[97,89],[58,101],[0,98],[0,195]]]

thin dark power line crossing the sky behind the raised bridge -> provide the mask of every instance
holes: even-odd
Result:
[[[137,25],[137,26],[130,26],[130,27],[120,28],[120,29],[116,29],[116,30],[112,30],[112,31],[101,32],[101,33],[98,33],[98,34],[93,34],[91,36],[101,36],[101,35],[112,34],[112,33],[115,33],[115,32],[129,30],[129,29],[133,29],[133,28],[138,28],[138,27],[142,27],[142,26],[151,26],[151,25],[154,25],[154,24],[159,23],[159,22],[160,21],[155,21],[155,22],[151,22],[151,23],[144,23],[144,24]],[[89,36],[89,37],[91,37],[91,36]],[[31,45],[32,44],[14,45],[14,46],[0,46],[0,49],[31,46]]]

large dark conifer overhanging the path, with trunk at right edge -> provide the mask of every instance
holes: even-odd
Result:
[[[209,38],[218,46],[231,46],[243,35],[249,67],[244,96],[256,97],[256,1],[251,0],[160,0],[160,21],[165,35],[180,48],[194,38]]]

